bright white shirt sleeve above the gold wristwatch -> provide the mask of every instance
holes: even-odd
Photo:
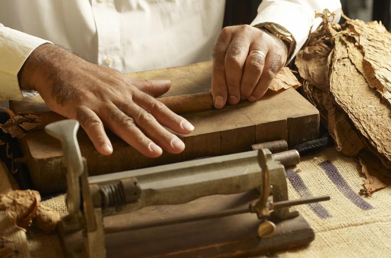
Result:
[[[331,12],[336,12],[334,22],[338,22],[341,18],[341,4],[339,1],[330,1],[328,4],[325,4],[324,8],[323,6],[321,7],[323,8],[322,10],[319,9],[320,6],[313,8],[310,4],[304,4],[303,2],[264,0],[258,8],[258,15],[250,24],[259,27],[260,23],[273,22],[285,27],[292,34],[296,45],[292,49],[292,54],[289,60],[287,60],[287,64],[296,56],[305,41],[307,41],[311,26],[313,25],[312,30],[314,30],[320,24],[321,18],[315,19],[316,11],[322,12],[324,8],[328,8]],[[330,5],[331,3],[333,5]]]

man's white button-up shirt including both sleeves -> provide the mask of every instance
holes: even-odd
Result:
[[[122,72],[210,60],[224,6],[225,0],[0,0],[0,98],[23,98],[18,71],[45,42]],[[263,0],[251,25],[288,29],[295,55],[320,22],[315,11],[325,8],[339,20],[339,0]]]

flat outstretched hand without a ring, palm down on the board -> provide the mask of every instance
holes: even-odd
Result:
[[[185,149],[163,126],[179,134],[194,129],[149,95],[167,92],[170,81],[128,78],[52,44],[35,49],[18,78],[22,88],[38,91],[51,110],[77,119],[104,155],[113,151],[104,125],[147,157],[160,156],[161,148],[170,153]]]

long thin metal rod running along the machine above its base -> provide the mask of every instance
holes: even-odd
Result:
[[[290,206],[295,206],[295,205],[300,205],[300,204],[308,204],[308,203],[312,203],[312,202],[321,202],[321,201],[325,201],[325,200],[330,200],[330,196],[323,195],[323,196],[319,196],[319,197],[308,197],[308,198],[303,198],[303,199],[298,199],[298,200],[280,201],[280,202],[275,202],[273,204],[273,209],[290,207]],[[172,225],[172,224],[192,222],[192,221],[197,221],[197,220],[206,220],[206,219],[211,219],[211,218],[220,218],[220,217],[226,217],[226,216],[249,213],[249,212],[251,212],[249,207],[237,208],[237,209],[227,209],[225,211],[212,211],[212,212],[208,212],[208,213],[201,213],[198,215],[169,218],[166,220],[154,220],[154,221],[148,221],[148,222],[143,222],[143,223],[134,224],[134,225],[106,227],[104,229],[104,233],[111,234],[111,233],[118,233],[118,232],[129,231],[129,230],[144,229],[144,228],[149,228],[149,227],[167,226],[167,225]]]

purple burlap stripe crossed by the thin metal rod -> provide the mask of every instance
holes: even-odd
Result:
[[[291,182],[291,185],[295,189],[295,191],[300,195],[301,198],[307,198],[312,197],[310,191],[308,190],[307,186],[305,185],[303,179],[301,179],[300,175],[296,173],[293,170],[287,170],[286,172],[287,178],[289,182]],[[332,217],[330,213],[326,210],[325,207],[323,207],[322,204],[319,202],[314,202],[308,204],[310,209],[318,215],[319,218],[330,218]]]

